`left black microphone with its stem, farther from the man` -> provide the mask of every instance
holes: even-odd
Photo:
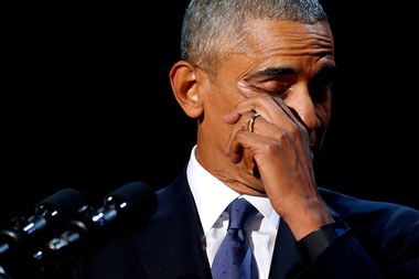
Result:
[[[52,228],[65,224],[84,205],[84,195],[74,189],[62,189],[34,206],[34,214],[13,217],[0,229],[0,262],[14,257],[28,246],[43,242]]]

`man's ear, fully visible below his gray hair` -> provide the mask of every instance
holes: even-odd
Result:
[[[203,112],[196,71],[192,64],[185,61],[176,62],[170,71],[170,83],[174,97],[183,111],[191,118],[197,118]]]

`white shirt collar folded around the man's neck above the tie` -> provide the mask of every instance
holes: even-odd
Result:
[[[278,228],[279,215],[273,210],[268,197],[240,195],[235,192],[200,164],[195,157],[195,150],[196,146],[191,152],[186,176],[200,214],[204,235],[210,232],[228,204],[239,196],[249,201]]]

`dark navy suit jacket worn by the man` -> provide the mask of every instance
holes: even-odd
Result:
[[[418,211],[319,191],[334,218],[351,229],[304,266],[289,227],[280,222],[269,278],[419,278]],[[185,173],[157,194],[159,208],[150,223],[80,259],[74,278],[211,278]]]

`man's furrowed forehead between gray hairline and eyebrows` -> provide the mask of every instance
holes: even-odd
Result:
[[[232,55],[224,63],[224,69],[238,75],[236,77],[264,67],[315,72],[334,65],[333,36],[327,22],[257,20],[246,30],[245,52]]]

